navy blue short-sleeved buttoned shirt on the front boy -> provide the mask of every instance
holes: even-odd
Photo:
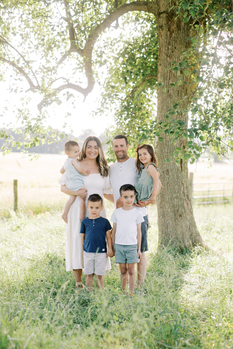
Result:
[[[106,218],[84,218],[81,223],[80,233],[85,234],[83,251],[107,252],[106,231],[112,229]]]

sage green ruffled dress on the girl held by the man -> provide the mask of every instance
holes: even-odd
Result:
[[[151,162],[146,166],[145,169],[141,170],[140,176],[137,180],[137,183],[134,185],[136,190],[136,198],[134,199],[134,203],[136,203],[139,200],[147,201],[150,200],[153,187],[154,187],[154,180],[150,176],[150,174],[147,173],[147,167],[149,165],[153,165],[157,171],[159,169],[156,167],[155,163]]]

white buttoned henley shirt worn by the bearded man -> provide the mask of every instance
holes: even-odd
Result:
[[[124,184],[134,185],[139,177],[138,170],[136,169],[135,159],[129,157],[128,160],[124,162],[115,162],[110,165],[110,183],[112,187],[112,193],[114,197],[114,209],[116,208],[116,201],[120,197],[119,190]],[[137,210],[141,212],[144,216],[147,215],[146,207],[136,207]]]

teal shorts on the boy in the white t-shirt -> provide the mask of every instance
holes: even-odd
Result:
[[[138,244],[118,245],[114,244],[115,263],[139,263]]]

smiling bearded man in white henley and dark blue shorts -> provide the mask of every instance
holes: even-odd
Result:
[[[129,148],[128,139],[122,134],[118,134],[112,140],[112,147],[116,155],[117,161],[110,165],[110,182],[114,197],[114,209],[116,208],[116,202],[119,199],[119,189],[122,185],[128,183],[134,185],[139,177],[138,171],[135,165],[135,159],[128,156],[127,150]],[[146,255],[145,252],[148,251],[147,246],[147,230],[148,230],[148,215],[147,209],[145,207],[147,201],[139,206],[135,207],[141,211],[143,215],[144,222],[141,223],[141,258],[138,267],[138,281],[137,285],[141,285],[144,282],[146,275]]]

